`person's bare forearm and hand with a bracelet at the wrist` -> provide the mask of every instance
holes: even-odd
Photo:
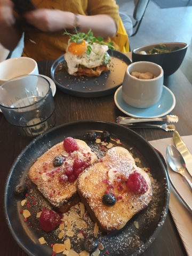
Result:
[[[26,20],[39,30],[53,32],[66,29],[74,29],[77,21],[76,15],[60,10],[38,9],[25,13]],[[78,26],[81,32],[87,33],[92,29],[94,36],[113,37],[116,33],[115,21],[105,14],[92,16],[78,15]]]

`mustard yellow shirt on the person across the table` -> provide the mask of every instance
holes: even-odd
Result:
[[[58,9],[81,15],[107,14],[119,26],[118,5],[115,0],[32,0],[35,6],[47,9]],[[23,56],[39,60],[58,59],[67,48],[68,36],[64,30],[54,33],[38,33],[26,29]],[[110,39],[108,39],[110,41]],[[118,46],[115,44],[117,50]]]

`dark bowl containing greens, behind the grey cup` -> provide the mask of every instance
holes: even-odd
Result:
[[[179,50],[176,50],[173,52],[147,54],[147,55],[143,55],[139,53],[141,51],[149,52],[149,50],[151,50],[153,47],[159,44],[167,45],[169,50],[178,46]],[[175,73],[175,71],[177,71],[178,68],[181,66],[181,63],[187,51],[187,47],[188,47],[188,44],[186,43],[156,43],[156,44],[141,46],[133,50],[132,61],[133,62],[137,62],[137,61],[154,62],[163,68],[164,77],[170,76],[173,73]]]

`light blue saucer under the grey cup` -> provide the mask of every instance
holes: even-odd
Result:
[[[122,86],[120,86],[114,95],[115,104],[123,113],[132,117],[162,117],[166,116],[175,107],[175,97],[170,89],[163,85],[161,99],[150,108],[134,108],[128,105],[122,98]]]

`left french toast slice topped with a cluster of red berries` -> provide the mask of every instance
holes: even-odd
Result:
[[[77,180],[74,182],[61,182],[60,175],[65,173],[66,166],[73,166],[75,159],[87,161],[89,164],[98,160],[97,155],[82,140],[75,139],[78,149],[67,153],[63,142],[47,150],[30,167],[29,178],[35,183],[37,189],[43,194],[51,206],[58,212],[67,212],[71,206],[81,201],[76,189]],[[63,164],[54,166],[54,157],[61,156]]]

